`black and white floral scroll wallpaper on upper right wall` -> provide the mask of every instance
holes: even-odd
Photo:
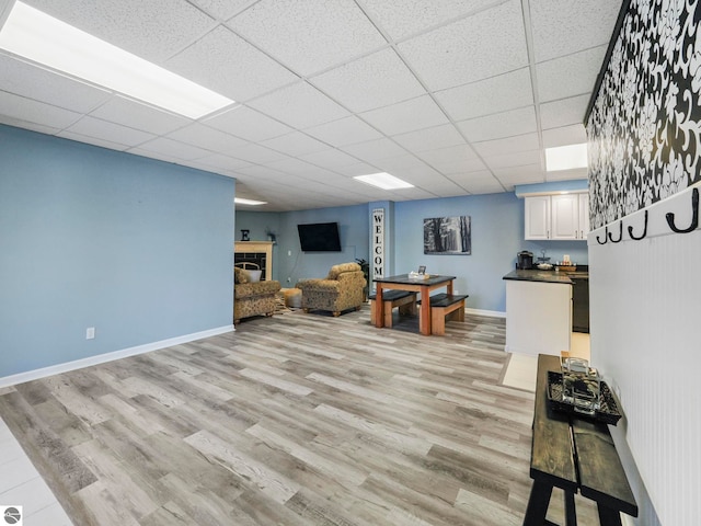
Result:
[[[701,180],[700,12],[701,0],[628,2],[587,116],[593,228]]]

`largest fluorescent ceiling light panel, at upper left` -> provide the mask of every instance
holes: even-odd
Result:
[[[234,102],[22,2],[0,30],[0,48],[189,118]]]

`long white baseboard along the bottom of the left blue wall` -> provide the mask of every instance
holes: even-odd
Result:
[[[209,329],[207,331],[193,332],[192,334],[161,340],[160,342],[146,343],[143,345],[137,345],[135,347],[123,348],[122,351],[97,354],[96,356],[90,356],[88,358],[74,359],[72,362],[66,362],[64,364],[51,365],[49,367],[43,367],[41,369],[27,370],[26,373],[19,373],[16,375],[0,378],[0,388],[14,386],[16,384],[23,384],[25,381],[37,380],[47,376],[60,375],[61,373],[82,369],[83,367],[104,364],[106,362],[126,358],[128,356],[136,356],[137,354],[150,353],[151,351],[158,351],[159,348],[171,347],[173,345],[180,345],[181,343],[188,343],[195,340],[202,340],[203,338],[216,336],[218,334],[223,334],[226,332],[232,331],[235,331],[233,325],[223,325],[216,329]]]

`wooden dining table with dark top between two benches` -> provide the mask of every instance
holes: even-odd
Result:
[[[375,309],[375,327],[384,327],[384,316],[382,315],[382,290],[398,289],[421,293],[421,309],[418,311],[418,331],[425,335],[430,335],[430,291],[446,287],[447,294],[452,294],[452,282],[456,276],[429,275],[428,277],[410,277],[409,274],[399,274],[389,277],[376,277],[374,283],[377,287]]]

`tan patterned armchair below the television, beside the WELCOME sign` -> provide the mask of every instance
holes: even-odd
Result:
[[[302,291],[304,312],[317,309],[340,316],[344,310],[360,309],[365,283],[360,265],[342,263],[332,266],[324,279],[301,279],[297,288]]]

